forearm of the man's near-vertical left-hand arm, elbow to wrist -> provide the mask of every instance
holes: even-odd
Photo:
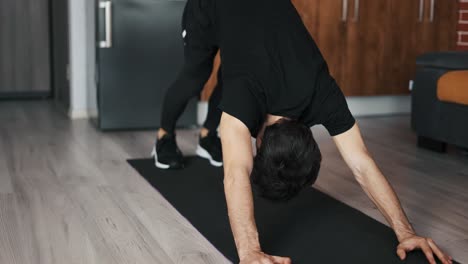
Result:
[[[224,191],[232,233],[239,258],[242,259],[251,251],[260,251],[254,218],[252,189],[247,172],[227,173],[224,180]]]

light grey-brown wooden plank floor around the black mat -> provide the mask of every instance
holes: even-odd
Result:
[[[408,116],[359,124],[417,231],[468,263],[468,157],[416,148]],[[314,134],[317,188],[383,221],[326,132]],[[196,140],[179,132],[186,154]],[[127,165],[153,141],[69,121],[48,101],[0,102],[0,263],[228,263]]]

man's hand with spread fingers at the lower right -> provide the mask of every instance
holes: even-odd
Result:
[[[416,235],[400,241],[397,248],[397,254],[401,260],[404,260],[406,258],[406,253],[415,249],[422,250],[431,264],[436,264],[434,254],[440,259],[442,264],[452,264],[452,257],[442,252],[432,239]]]

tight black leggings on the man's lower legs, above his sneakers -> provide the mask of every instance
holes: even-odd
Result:
[[[204,84],[213,70],[213,60],[217,49],[189,48],[185,46],[184,67],[172,83],[164,97],[161,128],[174,134],[177,120],[182,115],[189,100],[199,96]],[[221,119],[221,110],[218,108],[221,101],[221,69],[218,71],[218,84],[208,101],[208,115],[203,126],[209,131],[218,128]]]

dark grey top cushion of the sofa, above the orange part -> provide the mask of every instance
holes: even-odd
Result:
[[[431,52],[416,58],[419,67],[433,67],[447,70],[468,69],[468,52],[444,51]]]

